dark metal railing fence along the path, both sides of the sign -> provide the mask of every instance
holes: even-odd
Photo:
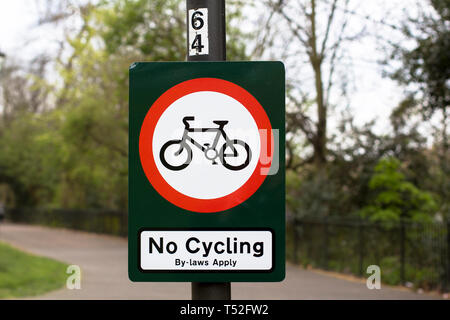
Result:
[[[110,210],[9,209],[11,222],[127,236],[126,212]],[[288,260],[304,266],[366,275],[381,268],[388,284],[450,290],[450,223],[396,224],[355,219],[302,218],[287,226]]]

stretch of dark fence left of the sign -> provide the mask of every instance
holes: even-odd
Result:
[[[126,237],[128,215],[112,210],[8,209],[6,219],[15,223],[40,224]]]

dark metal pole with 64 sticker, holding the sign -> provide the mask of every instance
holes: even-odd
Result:
[[[207,19],[206,19],[207,17]],[[187,60],[225,61],[225,0],[186,0]],[[230,300],[229,282],[193,282],[192,300]]]

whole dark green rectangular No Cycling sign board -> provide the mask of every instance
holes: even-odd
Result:
[[[134,63],[129,121],[129,278],[283,280],[283,64]]]

